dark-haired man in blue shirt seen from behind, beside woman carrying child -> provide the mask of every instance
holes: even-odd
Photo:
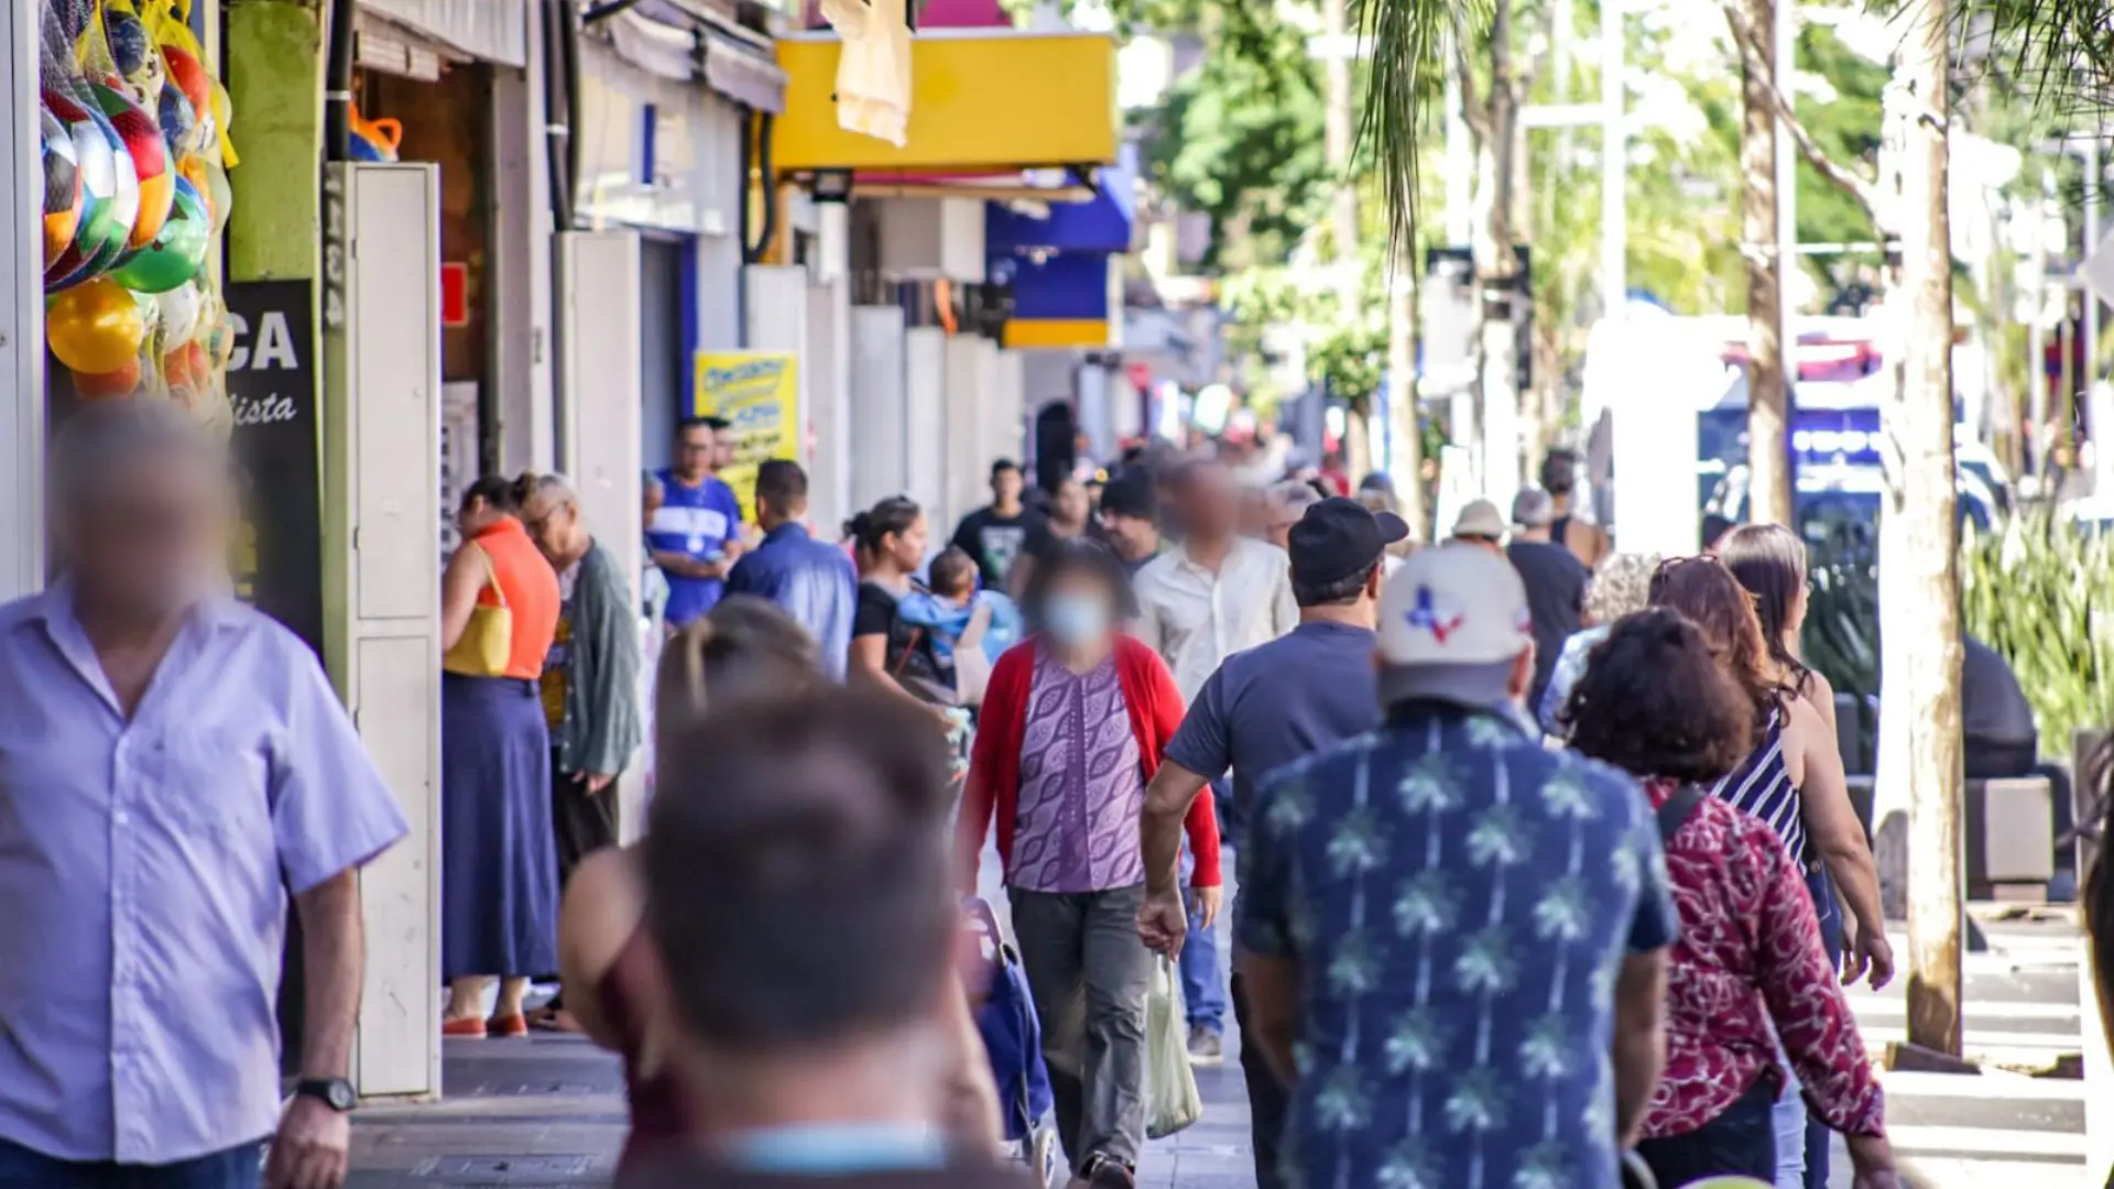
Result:
[[[808,472],[795,461],[772,459],[757,468],[757,527],[763,544],[727,575],[727,594],[755,594],[778,603],[822,650],[822,673],[843,679],[852,650],[852,611],[858,575],[841,548],[808,535]]]

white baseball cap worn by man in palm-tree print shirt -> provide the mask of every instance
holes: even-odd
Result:
[[[1509,700],[1512,666],[1535,647],[1526,586],[1497,550],[1416,550],[1380,590],[1380,702]]]

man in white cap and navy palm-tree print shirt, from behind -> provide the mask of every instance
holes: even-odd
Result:
[[[1676,916],[1640,789],[1520,726],[1533,675],[1518,573],[1427,548],[1380,597],[1385,726],[1256,798],[1235,933],[1294,1183],[1619,1185]]]

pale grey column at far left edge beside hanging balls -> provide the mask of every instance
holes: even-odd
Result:
[[[44,586],[44,163],[36,0],[0,0],[0,601]]]

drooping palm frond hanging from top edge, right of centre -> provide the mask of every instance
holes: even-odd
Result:
[[[1471,28],[1488,19],[1484,0],[1351,0],[1351,30],[1368,51],[1357,142],[1380,180],[1391,245],[1402,245],[1416,220],[1423,112],[1444,83],[1446,34],[1461,8]]]

